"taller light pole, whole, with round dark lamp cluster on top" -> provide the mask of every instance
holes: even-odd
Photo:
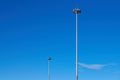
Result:
[[[78,14],[81,13],[81,10],[74,8],[73,12],[76,14],[76,80],[78,80]]]

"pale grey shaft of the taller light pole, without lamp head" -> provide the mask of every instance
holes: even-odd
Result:
[[[78,14],[76,13],[76,80],[78,80]]]

